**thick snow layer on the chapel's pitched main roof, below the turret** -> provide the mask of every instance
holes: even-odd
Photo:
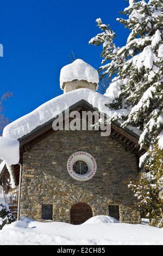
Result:
[[[80,100],[89,102],[99,112],[108,114],[109,117],[115,115],[121,119],[122,115],[129,114],[127,109],[118,109],[118,111],[110,110],[105,106],[108,103],[109,97],[90,89],[77,89],[72,92],[62,94],[54,99],[44,103],[36,108],[33,112],[24,115],[13,123],[7,125],[3,130],[3,136],[18,139],[33,131],[36,127],[45,124],[47,121],[56,117],[58,113],[71,107]]]

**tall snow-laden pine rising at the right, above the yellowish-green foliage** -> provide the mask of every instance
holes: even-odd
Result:
[[[141,147],[154,145],[163,129],[163,0],[149,0],[148,3],[129,0],[129,7],[123,14],[128,19],[117,20],[131,31],[127,44],[118,50],[116,48],[115,59],[123,57],[123,62],[118,68],[114,65],[114,71],[111,63],[100,68],[104,70],[102,76],[117,72],[114,81],[118,80],[118,85],[121,85],[117,97],[108,106],[111,109],[129,109],[130,114],[124,117],[122,125],[132,124],[143,130]],[[102,57],[105,62],[112,58],[110,41],[108,44],[103,33],[100,35],[91,41],[96,45],[103,41]],[[102,38],[101,41],[98,42],[98,38]]]

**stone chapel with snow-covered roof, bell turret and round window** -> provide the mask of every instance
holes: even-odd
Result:
[[[111,123],[110,136],[100,130],[53,129],[55,111],[104,112],[108,96],[97,93],[98,72],[83,60],[64,66],[60,86],[64,94],[9,124],[6,137],[20,142],[21,216],[41,221],[81,224],[96,215],[120,222],[140,223],[129,179],[139,174],[141,131]],[[0,184],[12,174],[19,185],[20,166],[1,164]],[[11,187],[9,188],[11,190]]]

